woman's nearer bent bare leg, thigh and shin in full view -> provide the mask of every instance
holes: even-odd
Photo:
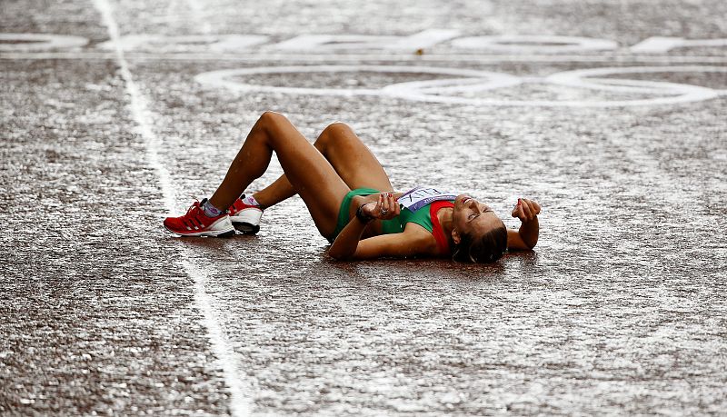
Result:
[[[283,114],[265,112],[260,116],[210,203],[219,208],[232,205],[245,187],[264,174],[273,152],[283,166],[288,184],[303,198],[319,232],[330,236],[341,202],[350,190],[324,155]]]

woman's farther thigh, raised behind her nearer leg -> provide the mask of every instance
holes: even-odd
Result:
[[[379,160],[347,124],[334,123],[326,127],[316,141],[316,148],[352,190],[375,188],[393,191],[389,175]]]

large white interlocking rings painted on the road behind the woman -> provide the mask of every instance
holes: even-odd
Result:
[[[274,85],[245,84],[232,79],[235,76],[252,74],[304,74],[376,72],[393,74],[437,74],[453,75],[453,78],[412,81],[386,85],[383,88],[310,88],[279,87]],[[611,107],[632,105],[680,104],[710,100],[727,95],[727,90],[716,90],[692,84],[678,84],[657,81],[608,78],[616,74],[654,73],[727,73],[722,66],[632,66],[607,67],[565,71],[545,77],[521,77],[513,74],[489,71],[443,68],[430,66],[395,65],[304,65],[266,66],[232,70],[213,71],[198,74],[194,79],[205,86],[219,87],[236,92],[267,92],[310,95],[378,95],[405,100],[492,106],[568,106],[568,107]],[[490,92],[519,84],[563,85],[583,90],[621,94],[658,94],[656,97],[631,100],[503,100],[495,98],[463,97],[453,94]],[[449,95],[448,95],[449,94]]]

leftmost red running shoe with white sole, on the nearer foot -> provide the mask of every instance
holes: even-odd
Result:
[[[227,213],[216,217],[207,217],[202,209],[202,202],[194,202],[187,213],[180,217],[167,217],[164,227],[180,236],[212,236],[227,237],[234,235],[233,223]]]

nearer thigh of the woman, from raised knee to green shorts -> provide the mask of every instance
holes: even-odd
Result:
[[[279,117],[278,117],[279,116]],[[282,114],[273,114],[267,128],[274,137],[274,151],[290,184],[303,198],[318,231],[334,233],[338,210],[350,189],[313,144]]]

